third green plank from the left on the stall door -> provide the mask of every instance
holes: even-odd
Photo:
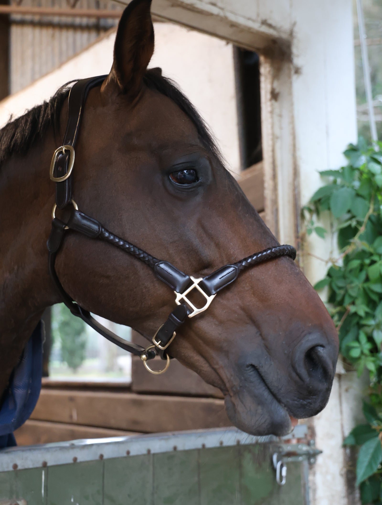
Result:
[[[105,460],[104,505],[151,505],[152,460],[152,455]]]

